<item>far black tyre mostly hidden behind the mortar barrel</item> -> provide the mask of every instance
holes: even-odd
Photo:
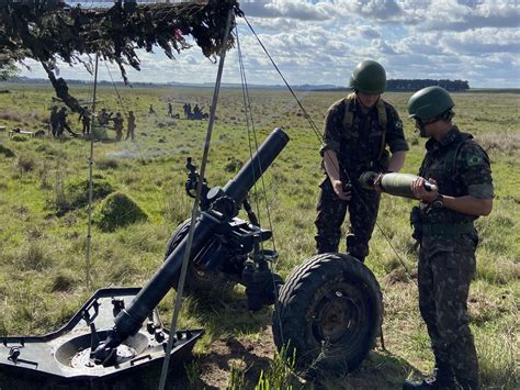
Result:
[[[188,235],[190,231],[191,220],[185,220],[182,222],[171,234],[168,243],[166,244],[165,260],[173,252],[173,249],[179,245],[179,243]],[[173,276],[171,280],[171,287],[176,289],[179,286],[179,280],[181,278],[181,267]],[[193,261],[190,261],[186,270],[186,279],[184,281],[184,293],[194,294],[197,292],[210,292],[219,288],[229,288],[231,285],[230,281],[226,279],[223,274],[213,272],[207,270],[201,270],[196,268],[196,265]]]

